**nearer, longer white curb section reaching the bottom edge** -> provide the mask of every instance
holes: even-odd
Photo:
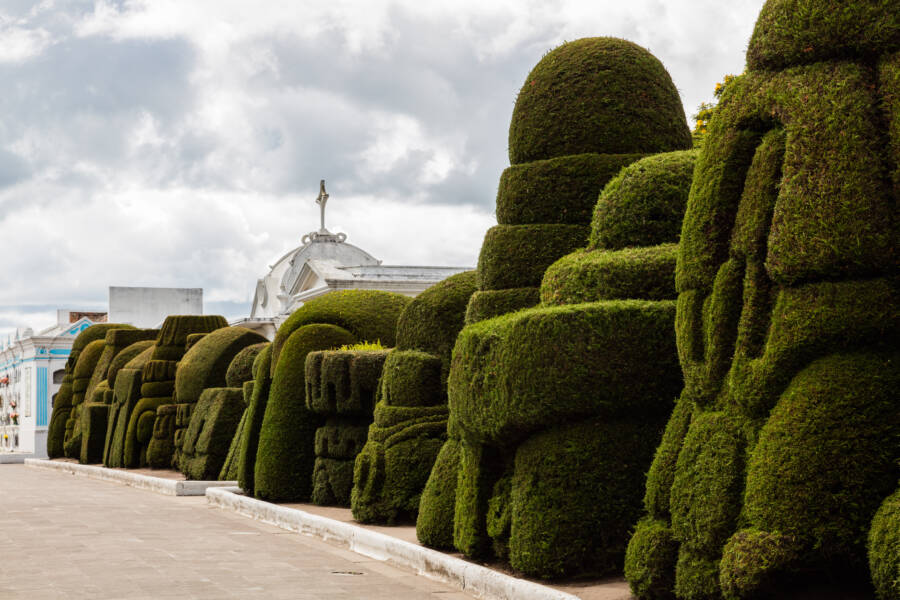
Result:
[[[313,515],[240,494],[237,487],[206,490],[207,501],[219,508],[270,523],[282,529],[315,536],[348,547],[357,554],[413,569],[429,579],[458,587],[489,600],[578,600],[576,596],[517,579],[350,523]]]

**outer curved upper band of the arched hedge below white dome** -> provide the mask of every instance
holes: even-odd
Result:
[[[271,372],[275,373],[281,348],[294,331],[312,323],[338,325],[358,340],[380,340],[389,348],[396,339],[397,318],[412,299],[392,292],[344,290],[310,300],[281,324],[272,342]]]

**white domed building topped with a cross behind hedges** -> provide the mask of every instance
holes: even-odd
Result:
[[[269,339],[287,317],[313,298],[336,290],[383,290],[416,296],[466,267],[388,266],[347,243],[347,234],[325,228],[325,182],[316,203],[321,211],[318,231],[306,234],[301,245],[287,252],[256,282],[250,318],[232,325],[247,327]]]

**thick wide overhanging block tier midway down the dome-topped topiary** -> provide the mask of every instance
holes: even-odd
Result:
[[[618,300],[541,307],[462,330],[452,419],[483,443],[600,416],[665,415],[681,388],[673,302]]]

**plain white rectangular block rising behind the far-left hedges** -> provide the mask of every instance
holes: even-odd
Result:
[[[109,322],[158,327],[169,315],[203,314],[203,288],[109,288]]]

